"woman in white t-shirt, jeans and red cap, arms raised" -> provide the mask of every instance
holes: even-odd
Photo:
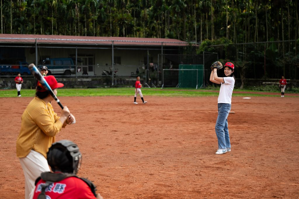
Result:
[[[225,64],[224,75],[224,77],[218,77],[217,68],[213,68],[210,75],[211,82],[221,84],[218,96],[218,117],[215,125],[215,132],[218,139],[218,150],[216,154],[231,151],[227,118],[231,111],[231,95],[233,94],[236,81],[234,77],[234,64],[231,62]]]

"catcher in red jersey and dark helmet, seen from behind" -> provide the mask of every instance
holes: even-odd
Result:
[[[47,153],[47,161],[52,172],[43,172],[35,181],[35,189],[30,199],[72,198],[103,199],[95,192],[94,184],[79,178],[76,174],[80,168],[82,155],[77,144],[69,140],[55,142]]]

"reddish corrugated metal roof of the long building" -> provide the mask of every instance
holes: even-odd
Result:
[[[37,43],[41,44],[93,44],[93,45],[142,45],[142,46],[187,46],[178,39],[137,38],[137,37],[91,37],[65,35],[21,35],[0,34],[0,43]]]

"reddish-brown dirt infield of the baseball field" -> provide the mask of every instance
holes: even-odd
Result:
[[[79,145],[78,175],[104,198],[298,198],[299,98],[278,94],[233,97],[232,148],[222,155],[217,97],[60,97],[77,123],[56,140]],[[24,197],[15,145],[30,100],[0,98],[0,198]]]

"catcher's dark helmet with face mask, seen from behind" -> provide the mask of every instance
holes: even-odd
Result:
[[[52,171],[77,174],[82,160],[79,147],[72,141],[60,140],[52,144],[47,161]]]

